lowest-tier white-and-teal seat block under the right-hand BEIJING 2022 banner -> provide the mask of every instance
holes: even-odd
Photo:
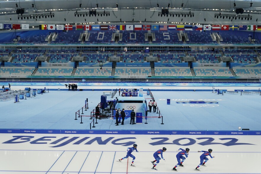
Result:
[[[233,74],[230,72],[229,69],[223,69],[223,68],[194,68],[194,72],[196,76],[233,76]]]

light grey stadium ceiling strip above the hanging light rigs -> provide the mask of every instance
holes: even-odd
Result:
[[[111,8],[110,10],[118,6],[119,9],[146,8],[148,10],[182,8],[185,10],[233,11],[236,8],[243,8],[249,12],[261,12],[261,0],[0,0],[0,13],[8,14],[17,8],[24,8],[28,11],[53,11],[54,9],[79,11],[97,8],[97,4],[98,8]]]

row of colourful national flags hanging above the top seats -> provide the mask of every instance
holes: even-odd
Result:
[[[0,29],[28,30],[29,24],[1,24]],[[39,25],[40,30],[73,30],[73,25]],[[76,30],[261,30],[261,25],[75,25]]]

